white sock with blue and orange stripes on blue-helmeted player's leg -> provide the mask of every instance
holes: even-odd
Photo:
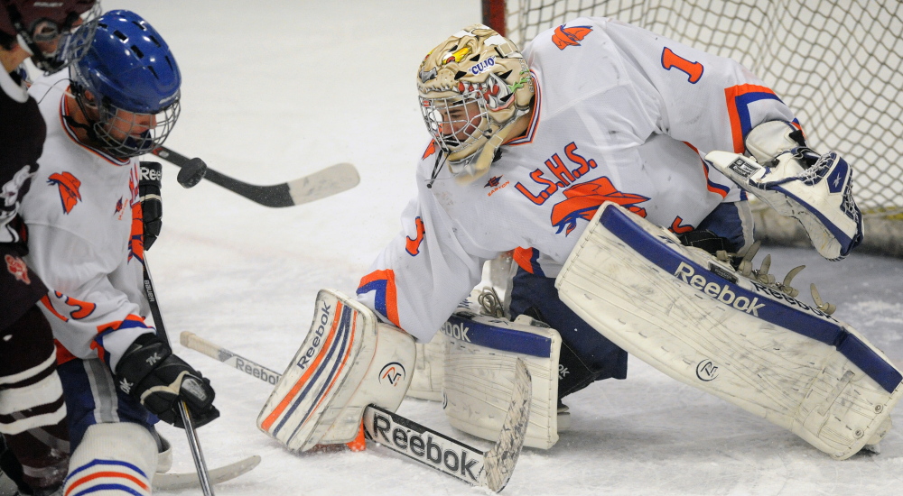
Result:
[[[128,422],[88,427],[72,453],[65,494],[150,496],[157,443],[146,428]]]

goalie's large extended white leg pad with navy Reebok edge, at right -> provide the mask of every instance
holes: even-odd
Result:
[[[555,281],[629,354],[837,459],[889,428],[900,372],[850,326],[608,203]]]

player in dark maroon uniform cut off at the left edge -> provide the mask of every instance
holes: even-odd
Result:
[[[23,262],[27,229],[18,211],[46,127],[17,68],[31,58],[53,72],[76,60],[99,7],[84,19],[80,15],[93,5],[94,0],[0,1],[0,468],[23,493],[50,494],[61,486],[69,433],[51,328],[35,306],[47,289]]]

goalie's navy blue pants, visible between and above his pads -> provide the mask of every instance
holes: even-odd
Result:
[[[696,226],[746,246],[752,219],[746,201],[721,203]],[[558,398],[582,390],[593,381],[627,378],[627,352],[600,335],[558,299],[555,278],[542,271],[517,269],[512,281],[511,315],[525,314],[552,326],[562,336],[558,366]]]

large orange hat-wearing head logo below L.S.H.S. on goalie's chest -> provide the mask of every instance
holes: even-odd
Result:
[[[552,207],[552,225],[558,228],[555,234],[565,231],[564,235],[571,234],[571,231],[577,226],[577,219],[590,220],[600,205],[607,201],[627,207],[634,214],[645,217],[646,208],[637,207],[637,204],[649,199],[642,195],[620,192],[604,176],[575,184],[571,188],[565,189],[563,193],[567,199]]]

